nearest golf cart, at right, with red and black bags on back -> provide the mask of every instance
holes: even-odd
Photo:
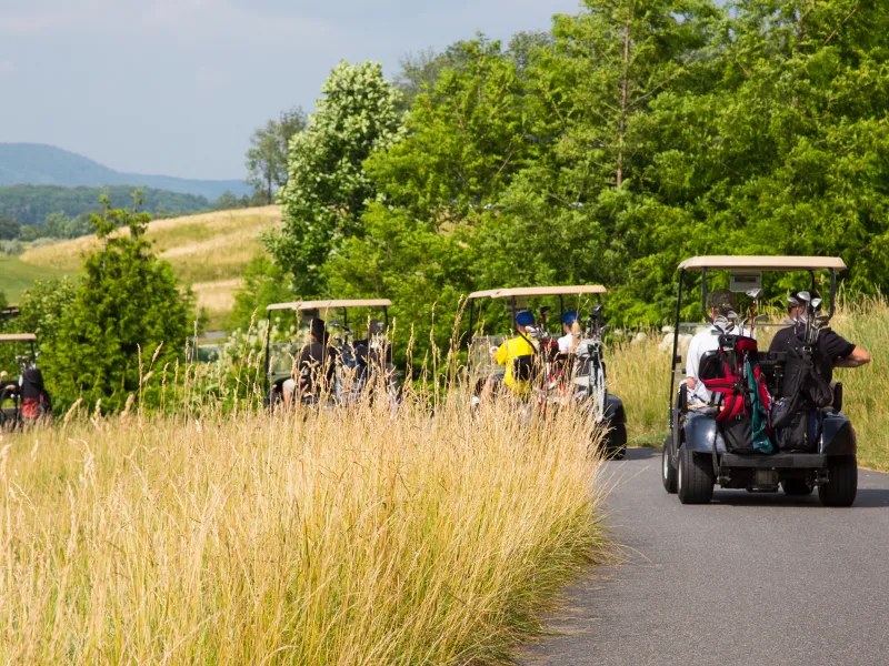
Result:
[[[716,484],[748,492],[777,492],[780,486],[787,495],[796,496],[809,495],[817,487],[826,506],[850,506],[855,502],[856,435],[840,411],[841,385],[831,391],[821,379],[823,397],[816,401],[810,393],[818,381],[813,350],[833,315],[836,273],[845,268],[841,259],[820,256],[697,256],[679,264],[670,434],[661,465],[668,493],[677,493],[683,504],[706,504]],[[746,294],[750,302],[746,316],[729,312],[711,320],[707,314],[708,276],[712,271],[729,272],[730,290]],[[828,315],[819,314],[821,299],[811,292],[799,292],[803,302],[790,303],[805,305],[806,314],[799,319],[769,324],[762,321],[765,316],[756,315],[763,272],[808,273],[813,292],[819,271],[827,271],[829,276]],[[702,309],[708,320],[692,326],[709,326],[718,336],[718,349],[705,353],[699,364],[700,379],[713,396],[706,404],[695,400],[690,404],[685,364],[678,354],[680,330],[688,327],[680,323],[688,273],[701,275]],[[770,326],[792,326],[791,340],[799,340],[799,346],[792,353],[760,351],[756,332]],[[807,383],[801,384],[797,380],[803,372]],[[791,423],[801,426],[801,437],[789,444]],[[800,432],[793,427],[793,432]]]

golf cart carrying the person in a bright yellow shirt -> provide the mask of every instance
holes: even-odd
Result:
[[[492,354],[506,341],[512,331],[512,319],[520,310],[528,310],[528,299],[558,300],[557,326],[561,314],[566,312],[566,299],[577,303],[578,315],[589,301],[585,296],[596,296],[586,320],[578,319],[580,331],[577,333],[576,349],[571,353],[560,353],[557,339],[561,331],[553,335],[547,330],[548,316],[552,306],[538,309],[537,324],[527,327],[527,332],[538,349],[536,370],[522,373],[516,369],[516,376],[527,374],[535,392],[532,400],[547,408],[558,406],[565,401],[579,401],[596,408],[596,417],[608,428],[607,454],[609,457],[623,457],[627,451],[627,418],[623,403],[619,397],[608,393],[606,389],[606,364],[602,357],[602,340],[607,326],[603,325],[601,296],[607,290],[601,285],[571,286],[523,286],[511,289],[493,289],[469,294],[469,354],[468,365],[476,377],[473,402],[478,403],[486,386],[498,386],[503,380],[505,369],[491,360]],[[506,305],[508,331],[506,334],[485,332],[482,311],[486,302],[501,301]],[[481,330],[476,331],[481,323]],[[525,361],[523,357],[516,363]]]

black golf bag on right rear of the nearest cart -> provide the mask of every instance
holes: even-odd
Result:
[[[811,451],[818,444],[818,410],[830,406],[833,392],[819,372],[818,345],[790,337],[780,398],[772,408],[772,428],[782,451]]]

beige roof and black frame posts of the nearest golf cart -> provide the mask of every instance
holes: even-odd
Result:
[[[837,271],[846,270],[846,263],[831,256],[732,256],[712,255],[693,256],[679,264],[679,286],[676,295],[676,326],[673,327],[673,354],[670,363],[670,414],[676,410],[676,364],[679,352],[679,320],[682,317],[682,281],[686,271],[701,272],[701,309],[707,322],[710,314],[707,312],[707,271],[749,271],[761,273],[771,272],[807,272],[811,276],[812,289],[816,286],[815,272],[828,271],[830,274],[830,315],[833,316],[837,300]],[[673,418],[670,418],[672,427]]]

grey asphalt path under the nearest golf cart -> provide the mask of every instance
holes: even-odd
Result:
[[[719,488],[683,506],[659,450],[606,476],[626,564],[569,588],[522,664],[889,664],[889,474],[859,471],[851,508]]]

